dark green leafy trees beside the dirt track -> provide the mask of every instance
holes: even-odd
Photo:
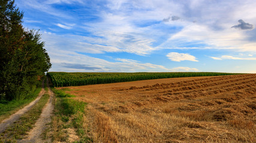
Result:
[[[23,100],[52,66],[40,34],[22,18],[14,1],[0,0],[0,100]]]

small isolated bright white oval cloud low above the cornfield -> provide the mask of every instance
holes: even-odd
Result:
[[[171,61],[198,61],[195,60],[193,55],[178,53],[178,52],[170,52],[166,55]]]

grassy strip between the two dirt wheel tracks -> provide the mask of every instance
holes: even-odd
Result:
[[[0,134],[0,142],[16,142],[16,139],[22,139],[33,128],[48,100],[49,95],[44,94],[31,110],[23,114],[17,122]]]

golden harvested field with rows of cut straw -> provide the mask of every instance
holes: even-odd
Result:
[[[256,142],[256,74],[58,89],[88,102],[94,142]]]

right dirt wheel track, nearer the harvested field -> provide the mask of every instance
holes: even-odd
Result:
[[[47,87],[48,87],[48,94],[50,95],[50,98],[46,105],[44,105],[43,111],[40,115],[40,118],[35,123],[35,127],[28,133],[28,136],[26,136],[25,139],[23,139],[20,142],[46,142],[41,139],[41,133],[44,131],[44,129],[47,128],[47,124],[51,121],[52,111],[53,111],[53,92],[50,90],[49,87],[49,80],[47,78]]]

